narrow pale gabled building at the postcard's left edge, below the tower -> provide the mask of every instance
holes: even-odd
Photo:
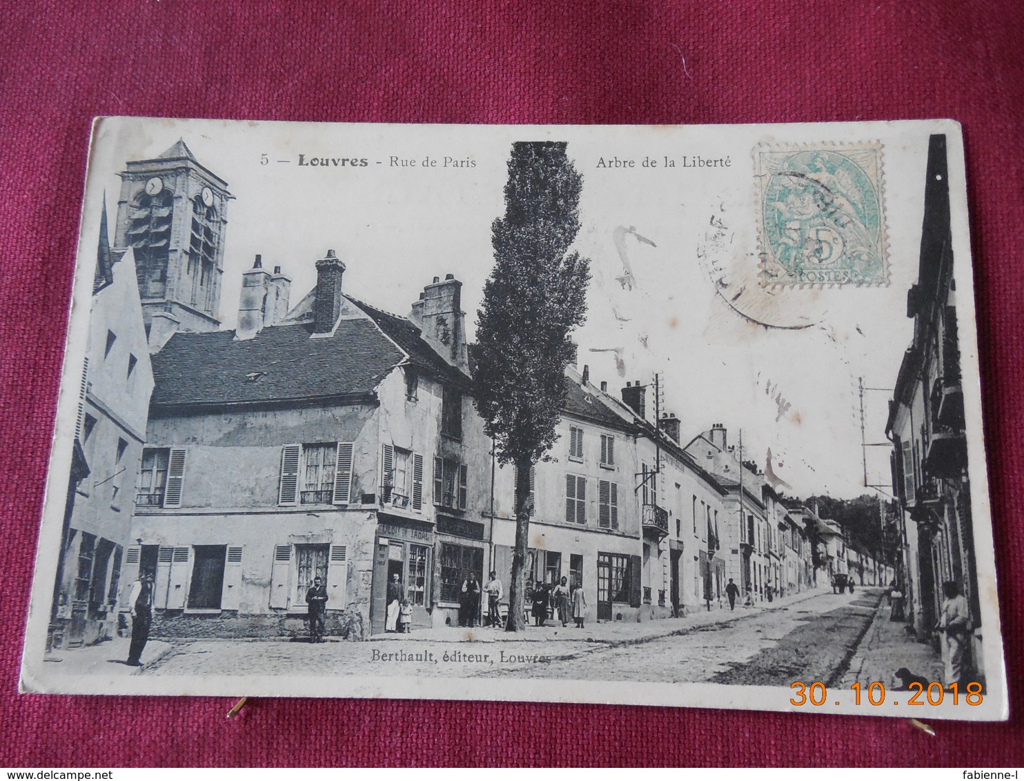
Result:
[[[118,631],[132,488],[154,387],[134,253],[112,253],[105,209],[104,203],[53,594],[52,648],[95,643]]]

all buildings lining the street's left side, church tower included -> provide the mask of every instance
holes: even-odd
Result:
[[[121,176],[53,644],[116,632],[140,573],[156,631],[193,637],[301,632],[316,576],[339,633],[383,632],[395,577],[414,628],[457,623],[471,572],[507,590],[515,475],[474,408],[462,284],[433,277],[399,316],[348,291],[329,251],[290,306],[291,279],[256,256],[220,330],[226,183],[183,141]],[[530,475],[530,583],[564,576],[591,620],[637,621],[718,609],[730,579],[762,601],[864,571],[870,557],[851,564],[842,530],[779,495],[724,425],[683,436],[647,385],[611,393],[587,366],[565,386]]]

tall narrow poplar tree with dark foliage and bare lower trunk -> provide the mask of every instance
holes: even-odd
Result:
[[[501,464],[516,467],[515,550],[506,628],[524,627],[529,475],[557,439],[569,333],[587,312],[590,261],[569,252],[580,230],[583,177],[564,141],[516,142],[505,216],[492,226],[495,267],[477,312],[476,409]]]

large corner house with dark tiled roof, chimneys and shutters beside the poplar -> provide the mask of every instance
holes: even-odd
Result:
[[[299,633],[316,576],[329,632],[383,632],[395,578],[413,625],[430,626],[451,621],[469,570],[482,576],[461,283],[435,277],[398,317],[345,295],[333,252],[316,269],[280,322],[281,274],[251,269],[243,310],[279,287],[263,308],[154,356],[128,561],[155,575],[162,634]]]

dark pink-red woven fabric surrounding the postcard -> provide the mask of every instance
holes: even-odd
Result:
[[[16,681],[93,116],[584,124],[951,117],[967,140],[999,598],[1011,704],[1019,705],[1024,6],[2,6],[0,765],[1022,762],[1019,707],[1006,725],[936,722],[935,738],[866,715],[528,703],[256,700],[227,722],[226,699],[20,696]]]

